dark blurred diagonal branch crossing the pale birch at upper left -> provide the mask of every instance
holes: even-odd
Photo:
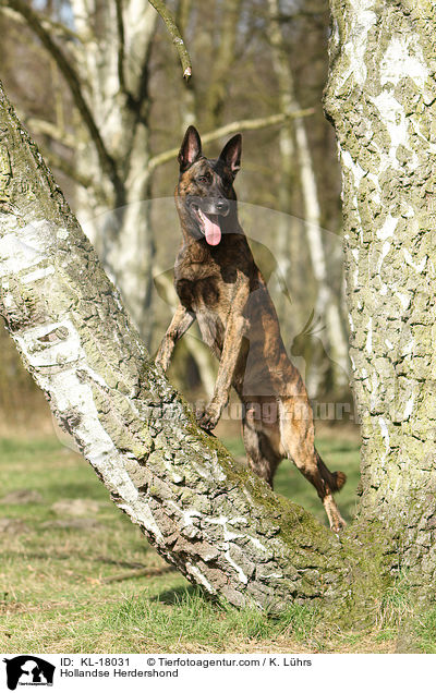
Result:
[[[110,178],[114,189],[117,191],[120,191],[122,189],[122,185],[121,185],[121,180],[117,171],[116,162],[113,158],[110,156],[110,154],[108,153],[106,145],[101,138],[100,132],[94,120],[93,113],[90,112],[90,109],[82,94],[81,81],[74,68],[72,66],[71,61],[59,48],[59,46],[55,42],[50,33],[44,27],[39,15],[24,0],[0,0],[0,7],[5,7],[5,5],[9,5],[10,8],[19,12],[24,17],[24,20],[27,22],[32,31],[35,32],[35,34],[38,36],[41,44],[47,48],[50,54],[55,58],[56,62],[59,65],[60,71],[62,72],[65,78],[66,84],[70,87],[70,90],[73,96],[74,102],[77,107],[77,110],[97,149],[97,155],[101,165],[101,169]]]

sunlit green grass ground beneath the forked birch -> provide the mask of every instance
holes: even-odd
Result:
[[[227,445],[243,454],[239,440]],[[317,447],[331,469],[349,476],[338,500],[351,519],[359,443],[330,434]],[[395,651],[403,608],[395,592],[390,610],[380,611],[389,610],[389,618],[358,633],[329,629],[308,607],[272,618],[211,604],[167,567],[109,500],[90,466],[55,435],[0,439],[0,652]],[[25,504],[1,500],[17,489],[38,491],[39,498]],[[325,522],[315,490],[290,463],[279,469],[276,490]],[[52,508],[62,499],[94,502],[84,516],[69,516]],[[435,652],[435,623],[429,615],[421,635],[416,631],[427,652]]]

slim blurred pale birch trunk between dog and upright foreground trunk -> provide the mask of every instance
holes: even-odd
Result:
[[[279,86],[281,110],[284,113],[295,112],[300,110],[300,104],[296,100],[294,77],[289,62],[289,51],[287,50],[281,29],[279,0],[268,0],[268,35],[272,50],[272,64]],[[324,248],[325,241],[323,241],[320,229],[322,211],[319,194],[304,120],[302,118],[295,118],[286,122],[280,130],[279,143],[282,173],[282,180],[279,184],[279,200],[281,208],[291,214],[292,196],[294,195],[293,189],[295,187],[295,178],[298,177],[300,179],[300,190],[304,209],[304,236],[307,241],[312,271],[317,285],[313,315],[316,316],[315,324],[319,317],[325,319],[326,333],[323,348],[327,349],[331,356],[329,364],[323,364],[323,358],[319,357],[319,354],[317,358],[316,356],[315,358],[312,356],[312,362],[315,362],[312,363],[312,365],[315,367],[306,372],[306,387],[313,397],[319,392],[322,388],[320,366],[324,365],[324,367],[327,366],[330,369],[330,388],[332,390],[343,391],[348,385],[347,340],[338,297],[335,296],[328,278]],[[298,160],[296,165],[295,159]],[[291,233],[289,233],[288,228],[290,223],[292,224]],[[281,223],[277,229],[277,256],[279,264],[282,266],[283,275],[287,278],[291,273],[289,258],[293,257],[295,264],[299,262],[299,244],[295,247],[295,243],[292,245],[290,243],[298,234],[298,226],[300,224],[296,224],[295,228],[295,219],[288,217],[281,219]],[[301,313],[300,319],[302,319]],[[307,332],[311,333],[311,330],[307,330]],[[316,341],[320,344],[319,340]],[[298,344],[294,344],[294,351],[298,351]]]

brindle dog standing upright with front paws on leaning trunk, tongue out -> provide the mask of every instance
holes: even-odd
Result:
[[[233,180],[240,169],[241,135],[218,159],[202,155],[190,126],[180,153],[175,189],[183,240],[174,267],[180,304],[156,356],[168,368],[175,342],[198,320],[204,341],[219,360],[215,391],[198,424],[211,430],[231,386],[243,404],[243,436],[251,469],[272,486],[284,458],[315,486],[330,527],[346,523],[334,500],[346,476],[329,472],[314,447],[307,392],[286,352],[276,309],[238,221]]]

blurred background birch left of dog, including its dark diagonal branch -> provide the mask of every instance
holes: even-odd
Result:
[[[70,169],[77,215],[149,343],[154,241],[144,200],[150,199],[148,59],[158,15],[138,0],[71,0],[70,5],[74,32],[48,27],[24,0],[0,0],[0,8],[27,23],[70,88],[76,110],[68,142],[75,155]],[[60,123],[43,121],[39,129],[65,139]]]

